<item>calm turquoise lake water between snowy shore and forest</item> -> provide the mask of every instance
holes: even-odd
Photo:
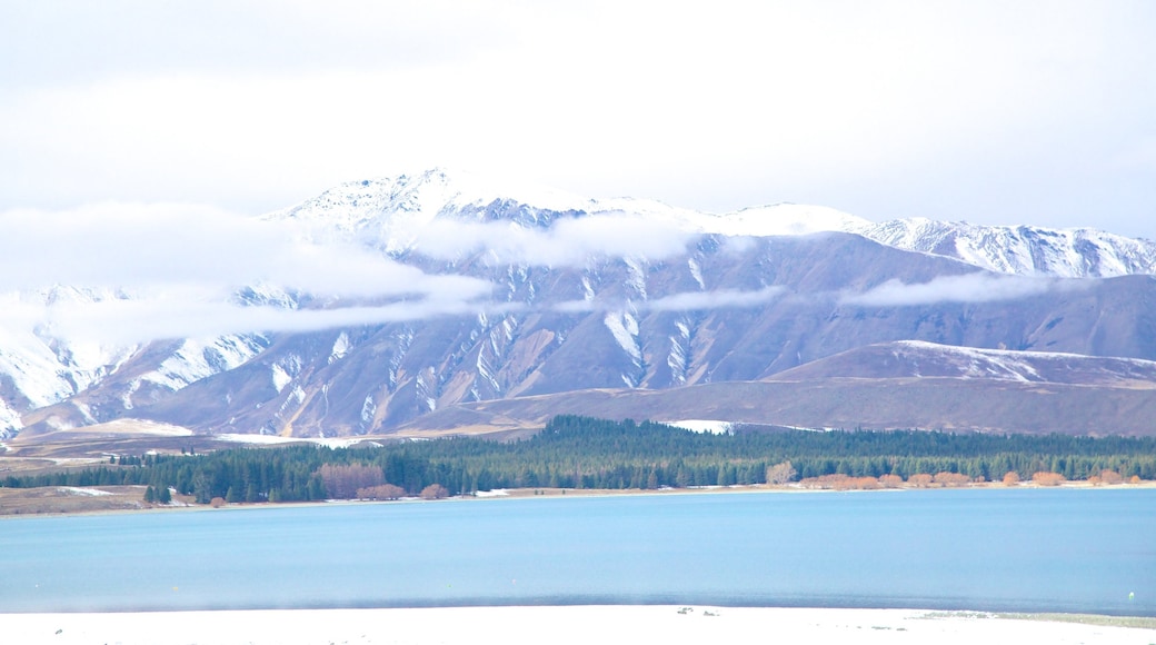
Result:
[[[575,603],[1154,616],[1156,490],[551,497],[0,521],[0,611]]]

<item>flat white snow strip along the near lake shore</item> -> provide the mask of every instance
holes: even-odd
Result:
[[[0,614],[0,633],[23,645],[1156,643],[1156,629],[980,613],[701,606]]]

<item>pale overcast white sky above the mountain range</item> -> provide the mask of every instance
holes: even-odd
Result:
[[[1156,239],[1156,2],[0,0],[0,213],[435,165]]]

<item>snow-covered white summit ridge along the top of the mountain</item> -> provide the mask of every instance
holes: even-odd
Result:
[[[844,231],[1015,275],[1156,274],[1156,243],[1092,229],[988,227],[919,217],[875,223],[833,208],[795,203],[710,214],[645,199],[579,198],[439,168],[342,184],[268,218],[303,224],[316,240],[344,239],[399,253],[413,249],[422,229],[439,218],[538,228],[560,217],[591,215],[621,215],[689,233],[724,236]]]

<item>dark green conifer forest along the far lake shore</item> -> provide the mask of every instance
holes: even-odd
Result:
[[[207,504],[462,495],[497,488],[654,489],[770,481],[958,474],[999,481],[1105,470],[1156,479],[1156,438],[938,431],[696,433],[670,425],[557,416],[528,439],[453,437],[381,446],[238,447],[199,455],[125,457],[101,467],[10,475],[2,485],[172,488]],[[790,462],[785,477],[783,465]],[[385,488],[390,487],[390,488]],[[428,490],[429,489],[429,490]],[[400,491],[400,492],[399,492]],[[366,494],[368,495],[368,494]]]

